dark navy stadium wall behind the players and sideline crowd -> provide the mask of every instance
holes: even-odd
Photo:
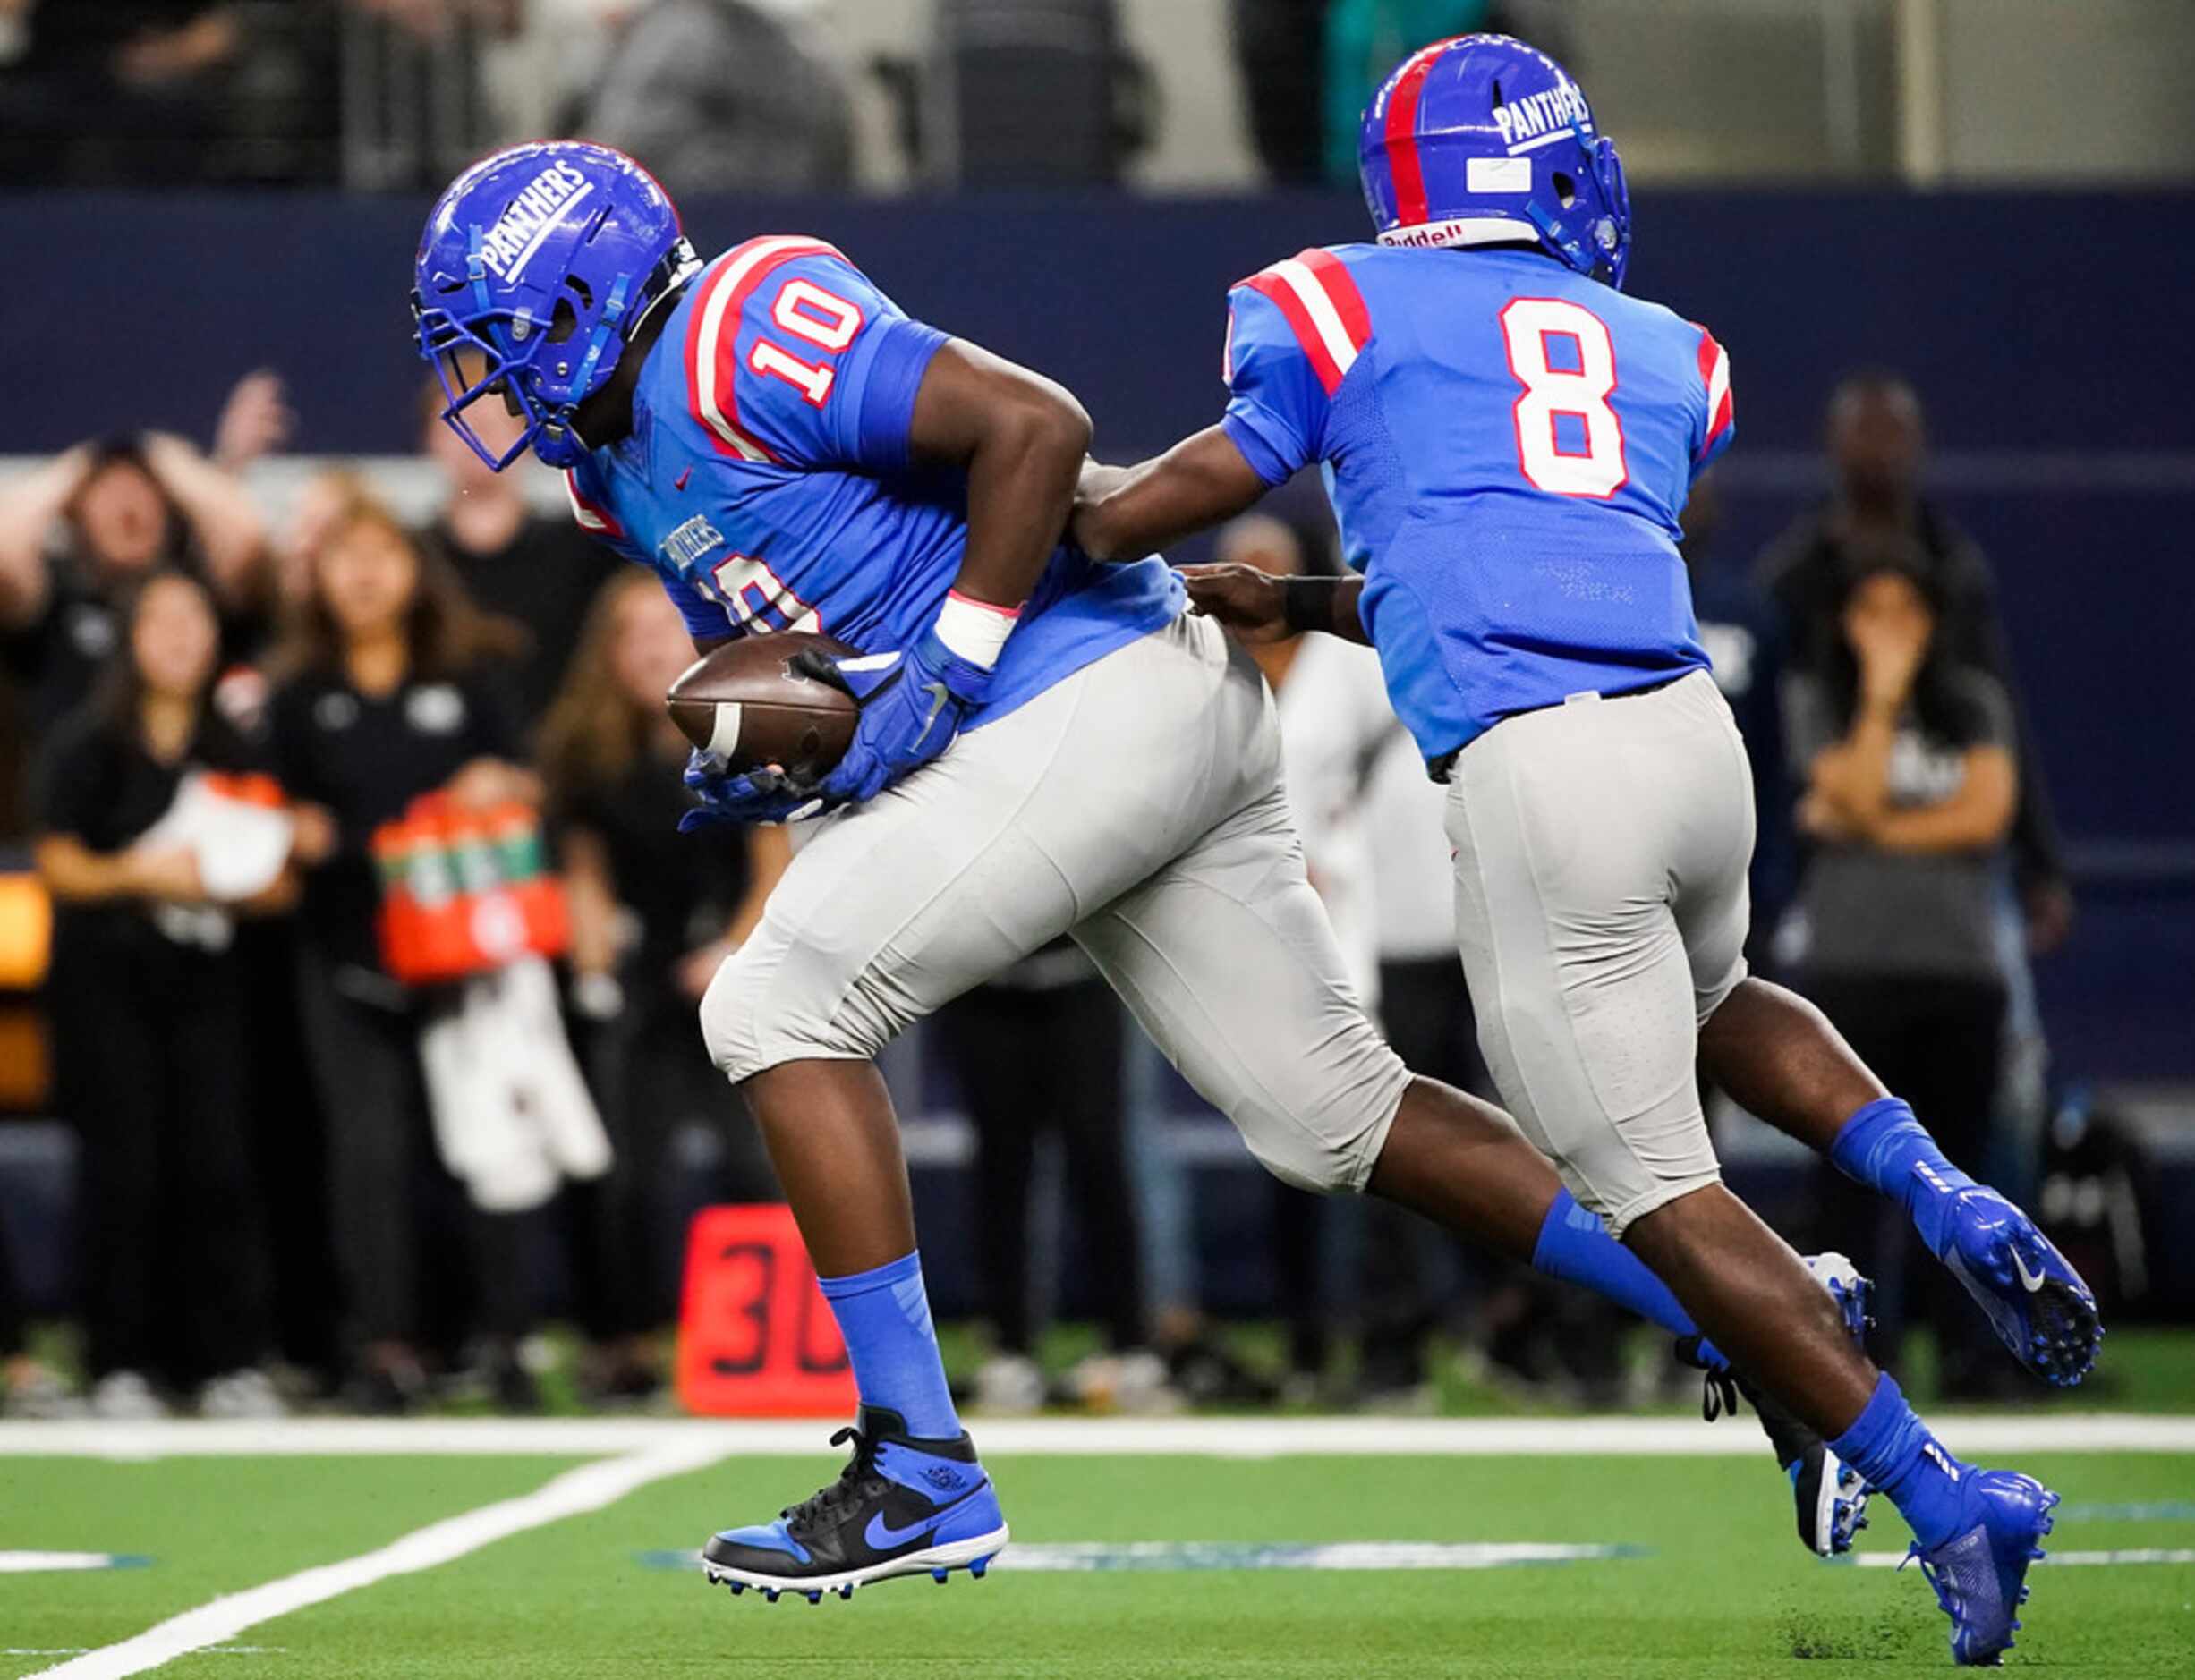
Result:
[[[1936,485],[1993,555],[2074,842],[2085,926],[2044,969],[2061,1070],[2195,1075],[2195,318],[2158,274],[2195,193],[1651,193],[1633,290],[1732,353],[1723,564],[1820,491],[1817,415],[1859,362],[1929,401]],[[0,197],[0,454],[121,425],[204,434],[248,366],[285,375],[314,454],[413,447],[408,261],[424,206],[312,195]],[[1357,237],[1348,195],[702,202],[705,250],[838,241],[909,311],[1073,386],[1100,450],[1212,421],[1229,281]],[[2177,259],[2175,259],[2177,252]]]

